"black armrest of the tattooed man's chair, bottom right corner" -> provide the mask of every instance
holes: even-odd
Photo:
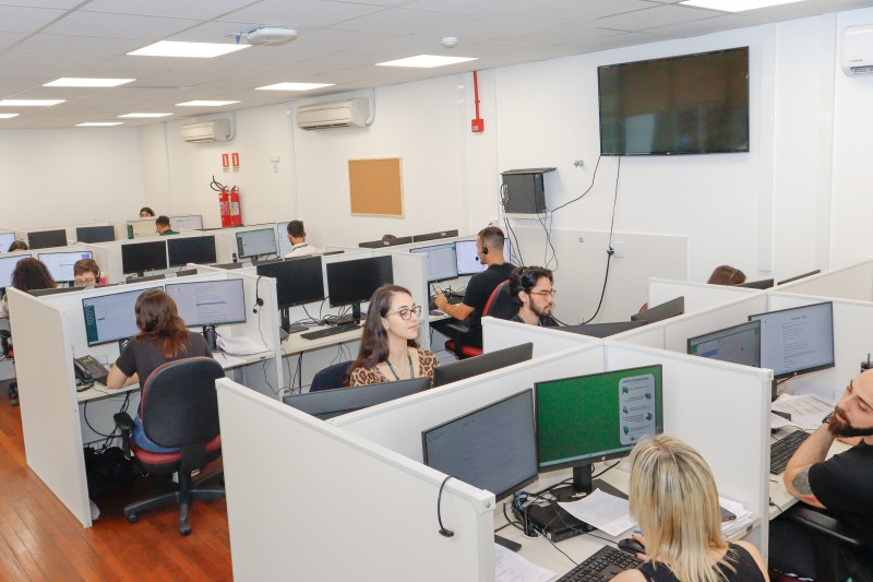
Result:
[[[850,572],[846,571],[845,551],[865,555],[873,553],[873,546],[856,532],[810,506],[796,504],[785,512],[785,519],[811,532],[815,547],[816,582],[844,582],[848,578]],[[852,577],[852,580],[861,579]]]

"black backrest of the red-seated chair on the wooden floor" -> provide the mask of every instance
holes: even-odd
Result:
[[[163,447],[205,443],[217,436],[218,399],[215,380],[222,365],[196,357],[169,361],[148,376],[140,416],[145,435]]]

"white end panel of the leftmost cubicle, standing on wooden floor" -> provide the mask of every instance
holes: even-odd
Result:
[[[70,312],[14,288],[9,294],[27,465],[85,527],[91,526]],[[51,365],[46,365],[51,363]]]

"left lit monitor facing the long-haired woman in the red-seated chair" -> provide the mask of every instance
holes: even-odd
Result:
[[[82,299],[88,346],[124,341],[140,333],[136,326],[136,298],[147,290],[163,288],[156,286]]]

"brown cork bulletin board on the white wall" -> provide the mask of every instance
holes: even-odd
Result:
[[[399,157],[348,161],[351,214],[403,217]]]

